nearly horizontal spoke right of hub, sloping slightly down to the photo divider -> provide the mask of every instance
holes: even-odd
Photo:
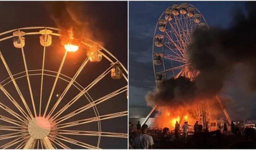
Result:
[[[114,132],[96,132],[96,131],[83,131],[83,130],[56,130],[58,134],[67,135],[88,135],[88,136],[106,136],[116,138],[127,138],[127,133],[114,133]]]

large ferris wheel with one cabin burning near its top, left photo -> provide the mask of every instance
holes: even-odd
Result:
[[[102,138],[127,141],[126,132],[102,125],[127,118],[126,68],[84,37],[64,48],[58,32],[26,27],[0,33],[1,149],[99,149]],[[126,107],[113,112],[105,107],[111,101]]]

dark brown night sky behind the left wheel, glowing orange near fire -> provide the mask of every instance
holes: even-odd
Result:
[[[21,27],[33,27],[33,26],[46,26],[46,27],[57,27],[55,22],[50,18],[49,2],[43,1],[1,1],[0,2],[0,33],[7,30],[12,30]],[[108,51],[110,51],[120,62],[123,63],[125,68],[127,68],[127,2],[126,1],[80,1],[76,2],[77,5],[82,6],[82,12],[77,14],[82,21],[88,23],[87,30],[85,31],[85,37],[90,33],[90,39],[100,41]],[[2,38],[2,37],[0,37]],[[20,49],[14,48],[12,45],[12,39],[3,41],[0,43],[0,49],[3,53],[6,62],[12,74],[17,74],[18,72],[24,71],[23,59]],[[83,60],[86,58],[86,47],[80,47],[76,53],[68,53],[65,60],[62,74],[69,77],[73,77],[77,69],[80,67]],[[26,55],[26,61],[28,70],[41,69],[42,58],[43,58],[43,46],[40,45],[39,36],[26,36],[26,44],[24,46],[24,52]],[[61,63],[62,57],[64,55],[64,48],[60,44],[58,37],[53,37],[52,45],[46,48],[46,62],[45,69],[58,71],[59,65]],[[81,86],[86,87],[91,81],[97,78],[102,72],[104,72],[110,66],[110,62],[106,59],[102,59],[100,63],[88,63],[79,77],[77,82]],[[0,63],[0,80],[3,81],[8,77],[5,67],[1,61]],[[40,82],[41,76],[31,77],[30,82],[32,86],[32,92],[34,94],[35,103],[38,104],[40,96]],[[43,106],[46,106],[48,101],[48,96],[53,85],[55,77],[44,77],[44,93],[43,93]],[[30,108],[31,100],[29,96],[29,90],[27,87],[26,77],[17,80],[17,84],[20,87],[23,96],[26,99]],[[50,103],[50,107],[56,101],[56,94],[61,94],[66,88],[67,82],[58,80],[55,91],[53,93],[53,98]],[[112,80],[110,74],[108,74],[102,81],[100,81],[96,86],[94,86],[88,93],[90,96],[96,100],[105,96],[115,90],[125,86],[127,83],[122,78],[121,80]],[[18,104],[24,108],[24,105],[19,98],[17,91],[15,90],[12,83],[6,85],[8,92],[17,100]],[[61,104],[59,104],[57,110],[62,108],[70,99],[72,99],[78,90],[75,87],[71,87],[69,92],[66,94],[64,99],[62,99]],[[3,93],[0,93],[1,102],[12,108],[16,109],[13,104],[6,98]],[[70,107],[70,109],[64,113],[70,113],[84,105],[87,105],[88,101],[85,97],[78,99],[76,103]],[[38,105],[37,105],[38,106]],[[118,107],[116,107],[118,106]],[[107,100],[99,105],[97,105],[99,115],[117,113],[120,111],[127,110],[127,99],[126,93]],[[30,110],[32,111],[32,109]],[[1,115],[13,118],[12,115],[7,114],[5,111],[0,110]],[[62,114],[63,115],[63,114]],[[75,121],[84,118],[95,117],[92,108],[87,111],[78,114],[76,117],[72,117],[65,122]],[[0,121],[3,123],[3,121]],[[10,125],[3,123],[2,125]],[[70,128],[72,130],[87,130],[87,131],[98,131],[98,123],[88,123],[85,125],[75,126],[75,128]],[[110,120],[101,121],[102,132],[119,132],[127,133],[127,117],[118,117]],[[8,132],[0,131],[0,134],[5,134]],[[69,138],[74,138],[78,141],[85,142],[91,145],[96,145],[98,141],[98,136],[68,136]],[[9,142],[8,140],[1,140],[0,145]],[[68,144],[70,148],[81,148],[77,145]],[[102,137],[100,148],[127,148],[127,138],[108,138]]]

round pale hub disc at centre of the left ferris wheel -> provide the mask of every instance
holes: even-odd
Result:
[[[44,117],[35,117],[30,120],[27,127],[29,134],[35,139],[43,139],[49,135],[50,122]]]

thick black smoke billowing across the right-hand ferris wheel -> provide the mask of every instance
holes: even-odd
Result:
[[[187,56],[189,67],[200,72],[189,81],[184,77],[169,79],[146,95],[147,104],[180,105],[198,99],[212,99],[221,93],[226,80],[240,76],[235,74],[238,64],[247,66],[243,81],[249,93],[256,90],[256,2],[248,2],[247,12],[236,12],[230,28],[198,28],[192,34]],[[248,72],[246,72],[248,71]],[[237,78],[237,77],[236,77]],[[250,83],[250,84],[248,84]]]

